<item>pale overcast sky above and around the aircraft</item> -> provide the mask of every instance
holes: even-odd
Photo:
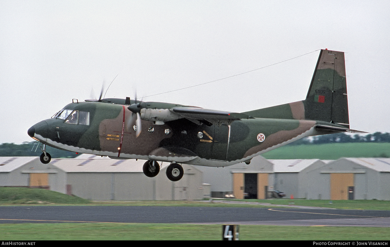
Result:
[[[352,129],[390,132],[389,1],[0,0],[0,143],[77,98],[225,111],[303,100],[318,49],[346,52]]]

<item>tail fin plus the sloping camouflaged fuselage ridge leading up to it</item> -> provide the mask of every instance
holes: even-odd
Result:
[[[305,100],[244,113],[254,118],[321,120],[349,129],[344,52],[321,50]]]

